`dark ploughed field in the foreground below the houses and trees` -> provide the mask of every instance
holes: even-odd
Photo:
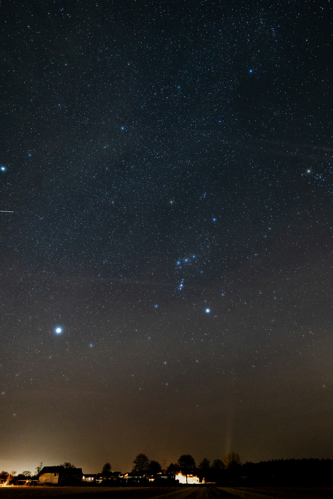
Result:
[[[333,488],[287,487],[0,487],[0,499],[333,499]]]

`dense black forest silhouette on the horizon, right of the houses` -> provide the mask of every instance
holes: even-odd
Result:
[[[332,487],[332,459],[275,459],[245,463],[240,481],[247,485]]]

